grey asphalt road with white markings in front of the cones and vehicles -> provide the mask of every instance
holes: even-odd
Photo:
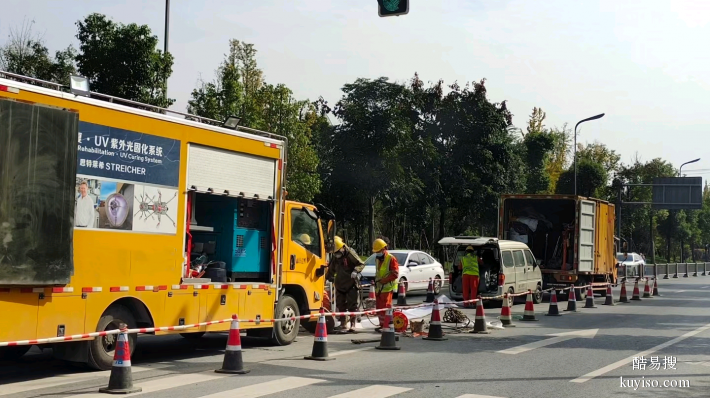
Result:
[[[633,284],[628,285],[629,298]],[[446,293],[447,290],[442,291]],[[643,288],[641,289],[643,291]],[[537,322],[470,334],[445,325],[446,341],[400,337],[400,351],[355,345],[352,335],[328,338],[331,361],[307,361],[312,336],[303,333],[286,347],[242,340],[247,375],[217,374],[225,335],[197,342],[179,336],[146,336],[133,356],[134,385],[155,398],[187,397],[707,397],[710,395],[710,276],[659,279],[660,297],[628,304],[545,316]],[[614,289],[614,301],[619,288]],[[410,304],[423,296],[409,296]],[[547,301],[547,300],[546,300]],[[474,310],[463,310],[471,319]],[[488,308],[495,320],[500,309]],[[564,334],[566,333],[566,334]],[[555,334],[562,334],[554,336]],[[360,333],[356,338],[379,338]],[[643,356],[633,369],[633,357]],[[38,349],[20,362],[0,364],[0,396],[105,397],[99,387],[109,372],[81,371]],[[657,387],[653,387],[656,386]],[[664,388],[667,386],[683,386]]]

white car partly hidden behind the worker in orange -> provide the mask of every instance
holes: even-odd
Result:
[[[426,291],[429,278],[434,282],[434,293],[439,294],[444,281],[444,267],[432,256],[418,250],[389,250],[399,263],[399,283],[403,283],[405,292]],[[375,283],[375,255],[365,260],[361,283]],[[369,288],[363,289],[367,297]]]

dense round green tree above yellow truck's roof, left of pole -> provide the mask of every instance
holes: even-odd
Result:
[[[148,25],[115,23],[96,13],[76,25],[77,66],[92,91],[163,108],[175,102],[166,95],[173,57],[156,48],[158,37]]]

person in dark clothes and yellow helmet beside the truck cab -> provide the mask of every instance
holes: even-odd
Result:
[[[338,312],[356,312],[357,300],[360,297],[357,281],[360,272],[365,268],[365,263],[360,260],[355,250],[345,245],[339,236],[335,237],[334,243],[333,257],[328,264],[326,279],[335,285],[335,305]],[[348,322],[350,328],[347,332],[354,333],[355,316],[351,315]],[[346,327],[345,317],[341,316],[337,331],[344,332]]]

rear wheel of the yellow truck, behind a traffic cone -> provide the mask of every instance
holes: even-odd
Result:
[[[109,307],[99,319],[96,325],[96,331],[118,329],[121,323],[128,325],[129,329],[136,327],[136,320],[131,311],[122,305]],[[89,342],[89,367],[98,370],[111,370],[113,365],[113,354],[115,344],[118,341],[118,335],[109,335],[98,337]],[[131,356],[136,349],[138,335],[128,335],[128,345],[130,347]]]

